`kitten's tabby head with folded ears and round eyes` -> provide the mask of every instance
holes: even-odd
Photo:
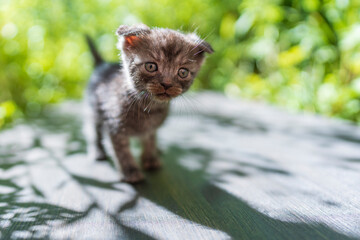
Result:
[[[169,101],[191,86],[204,61],[213,53],[209,43],[196,34],[170,29],[150,29],[146,25],[118,28],[119,49],[125,71],[138,92]]]

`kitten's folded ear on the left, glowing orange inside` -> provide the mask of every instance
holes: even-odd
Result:
[[[136,42],[139,40],[139,35],[145,35],[150,33],[150,28],[145,24],[137,25],[120,25],[117,29],[116,34],[118,36],[123,36],[125,39],[125,45],[135,46]]]

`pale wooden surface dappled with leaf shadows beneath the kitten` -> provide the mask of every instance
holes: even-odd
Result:
[[[216,94],[189,99],[200,110],[174,104],[159,133],[164,167],[135,186],[88,157],[80,103],[3,131],[2,237],[360,236],[357,128]]]

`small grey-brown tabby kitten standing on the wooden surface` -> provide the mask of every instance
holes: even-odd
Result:
[[[105,63],[88,39],[96,65],[88,98],[95,116],[96,159],[106,159],[102,143],[106,128],[124,180],[136,183],[144,177],[131,155],[129,137],[141,140],[143,169],[161,166],[156,130],[166,119],[170,100],[189,89],[204,54],[213,49],[194,33],[150,29],[143,24],[122,25],[117,35],[122,65]]]

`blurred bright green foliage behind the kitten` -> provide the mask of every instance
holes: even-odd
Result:
[[[212,44],[195,89],[359,122],[359,0],[1,0],[0,128],[81,98],[83,33],[117,61],[120,24],[196,30]]]

